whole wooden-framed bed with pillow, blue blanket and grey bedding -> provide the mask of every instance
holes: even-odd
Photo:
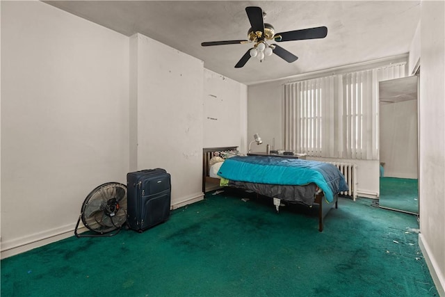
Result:
[[[222,150],[227,148],[227,150]],[[318,207],[318,230],[323,218],[338,207],[338,193],[348,185],[336,166],[318,161],[276,156],[241,156],[234,147],[204,149],[204,171],[208,181],[219,186],[243,188],[273,198],[277,212],[283,202]],[[231,154],[225,154],[232,151]],[[203,185],[204,188],[204,185]],[[204,190],[203,190],[204,191]]]

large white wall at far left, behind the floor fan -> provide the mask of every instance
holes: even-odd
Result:
[[[72,230],[128,170],[128,38],[40,1],[1,1],[1,257]]]

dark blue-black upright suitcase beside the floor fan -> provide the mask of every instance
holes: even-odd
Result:
[[[127,223],[143,232],[170,216],[170,174],[162,168],[127,173]]]

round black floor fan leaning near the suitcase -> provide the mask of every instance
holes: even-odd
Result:
[[[77,233],[81,220],[94,233]],[[97,186],[83,201],[74,234],[76,237],[114,236],[120,232],[126,221],[127,186],[108,182]]]

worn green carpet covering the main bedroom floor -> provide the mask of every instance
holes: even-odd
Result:
[[[318,232],[316,209],[247,195],[3,259],[1,296],[438,296],[415,216],[340,198]]]

